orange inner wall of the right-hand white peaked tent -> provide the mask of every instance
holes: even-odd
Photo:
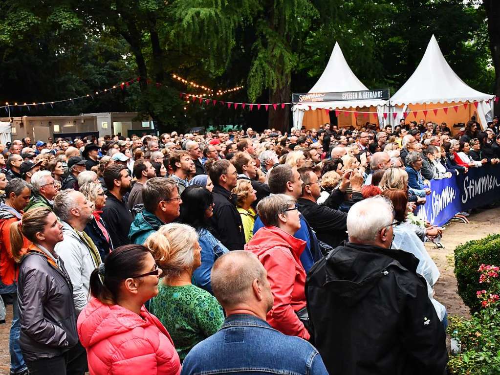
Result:
[[[457,111],[453,109],[453,106],[458,106]],[[445,113],[442,107],[449,106],[447,108],[448,113]],[[434,114],[432,109],[440,108],[437,110],[437,114]],[[417,110],[416,116],[412,113]],[[427,110],[427,115],[424,115],[422,110]],[[463,106],[463,102],[453,102],[453,103],[435,103],[435,104],[408,104],[406,109],[408,112],[406,116],[406,122],[416,121],[418,122],[420,118],[425,121],[432,121],[440,124],[441,122],[446,122],[448,127],[451,129],[452,134],[456,134],[460,127],[453,127],[455,123],[467,123],[470,117],[475,116],[477,121],[479,121],[479,116],[477,115],[477,109],[474,104],[467,104],[467,108]],[[480,122],[480,121],[479,121]],[[482,124],[481,124],[482,125]],[[485,126],[486,124],[484,124]]]

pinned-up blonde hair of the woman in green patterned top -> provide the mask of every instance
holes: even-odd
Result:
[[[194,248],[198,241],[196,231],[189,225],[170,223],[149,234],[144,242],[154,261],[167,280],[190,270],[194,263]]]

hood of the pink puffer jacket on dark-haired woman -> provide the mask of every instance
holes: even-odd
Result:
[[[83,347],[89,348],[115,334],[152,324],[148,317],[144,306],[139,316],[120,305],[107,305],[97,298],[91,298],[78,316],[78,335]]]

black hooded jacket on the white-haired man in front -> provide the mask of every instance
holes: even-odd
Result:
[[[345,242],[309,270],[307,310],[330,374],[442,375],[444,328],[408,252]]]

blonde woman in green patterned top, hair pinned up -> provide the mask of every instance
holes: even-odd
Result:
[[[147,237],[144,246],[164,275],[149,309],[168,327],[182,361],[195,344],[220,328],[222,307],[213,295],[191,283],[201,264],[198,235],[192,227],[165,224]]]

